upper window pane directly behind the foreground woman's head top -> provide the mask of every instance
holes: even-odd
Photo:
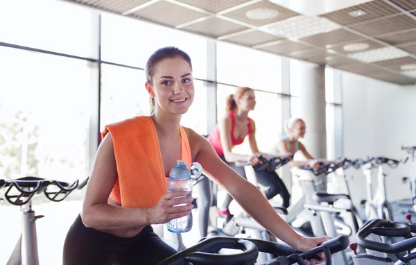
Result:
[[[207,40],[190,33],[116,15],[102,15],[102,59],[144,68],[164,46],[177,46],[191,57],[193,76],[207,77]]]

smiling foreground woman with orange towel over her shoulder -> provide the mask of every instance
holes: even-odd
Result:
[[[187,191],[167,189],[166,176],[177,160],[199,162],[250,216],[293,248],[309,250],[325,241],[300,237],[257,187],[220,160],[207,139],[180,126],[194,94],[187,53],[175,47],[155,51],[146,64],[146,90],[155,103],[150,116],[105,126],[83,211],[65,240],[64,265],[157,264],[176,253],[151,225],[191,211],[193,198]],[[247,110],[254,108],[252,90],[240,101]]]

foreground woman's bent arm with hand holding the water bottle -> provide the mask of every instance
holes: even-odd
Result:
[[[83,203],[83,223],[87,227],[98,230],[128,230],[129,228],[141,228],[153,223],[163,223],[165,219],[184,216],[182,212],[189,212],[191,206],[174,207],[176,212],[165,212],[173,207],[166,204],[177,205],[190,203],[190,198],[171,198],[183,196],[180,192],[164,194],[157,205],[153,207],[119,207],[107,203],[117,179],[116,160],[112,137],[108,133],[96,154],[96,160],[92,174],[88,180],[87,191]],[[183,210],[181,213],[181,210]]]

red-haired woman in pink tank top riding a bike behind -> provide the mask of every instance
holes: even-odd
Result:
[[[243,167],[235,166],[234,162],[248,161],[252,166],[259,164],[259,155],[265,158],[273,157],[266,153],[261,153],[257,148],[256,142],[256,126],[252,119],[248,117],[248,113],[254,110],[256,105],[256,96],[250,87],[239,87],[235,94],[227,97],[227,116],[218,122],[214,132],[209,135],[208,140],[216,150],[220,158],[234,169],[240,176],[246,178]],[[252,155],[241,155],[233,153],[232,148],[242,144],[245,136],[248,135],[250,149]],[[288,207],[290,194],[276,173],[267,171],[256,171],[257,180],[261,185],[269,187],[266,197],[273,198],[277,194],[281,194],[283,198],[283,206]],[[227,220],[232,218],[228,207],[233,198],[229,194],[225,197],[223,206],[217,208],[217,214],[223,216]]]

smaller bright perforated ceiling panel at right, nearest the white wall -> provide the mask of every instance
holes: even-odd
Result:
[[[358,53],[349,53],[348,57],[361,62],[378,62],[408,56],[406,51],[396,47],[384,47],[372,49],[370,51],[359,51]]]

